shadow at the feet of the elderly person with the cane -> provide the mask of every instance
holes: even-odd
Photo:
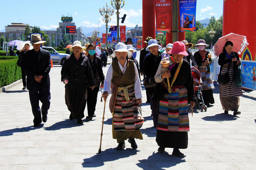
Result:
[[[109,148],[102,151],[101,153],[97,153],[90,158],[85,158],[82,166],[101,167],[104,165],[104,162],[115,161],[120,158],[128,158],[129,156],[137,154],[137,152],[139,152],[139,150],[133,150],[131,148],[125,150],[116,150],[116,148]]]

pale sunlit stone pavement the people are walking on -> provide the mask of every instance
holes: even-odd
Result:
[[[110,61],[108,61],[110,62]],[[108,65],[109,66],[109,65]],[[108,66],[103,68],[106,74]],[[116,150],[112,138],[111,113],[106,102],[102,153],[98,154],[104,102],[98,95],[96,118],[84,119],[83,125],[69,120],[64,101],[61,66],[50,71],[51,107],[47,123],[34,128],[27,90],[18,84],[0,93],[0,170],[255,170],[256,169],[256,92],[246,91],[240,98],[241,115],[224,115],[218,85],[215,104],[207,112],[194,112],[190,119],[189,147],[181,150],[186,157],[172,156],[172,149],[157,152],[156,129],[145,104],[143,87],[143,140],[138,149]],[[87,109],[85,110],[87,115]]]

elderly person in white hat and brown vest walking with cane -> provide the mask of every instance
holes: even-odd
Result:
[[[142,102],[139,73],[134,62],[128,60],[132,53],[124,43],[116,45],[113,55],[117,60],[114,60],[108,69],[102,96],[106,101],[111,92],[109,106],[113,115],[112,134],[119,143],[116,150],[125,148],[126,139],[133,149],[137,149],[134,138],[143,139],[140,127],[144,121],[138,112],[138,105]]]

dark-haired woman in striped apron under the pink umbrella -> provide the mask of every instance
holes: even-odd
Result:
[[[236,69],[241,65],[239,56],[236,52],[233,52],[233,43],[227,41],[223,47],[223,52],[219,55],[218,64],[221,66],[220,74],[224,75],[229,72],[230,81],[228,84],[220,85],[220,100],[224,113],[228,114],[228,111],[234,111],[233,115],[239,115],[238,111],[240,99],[242,96],[241,86],[236,86]],[[229,69],[228,69],[229,68]]]

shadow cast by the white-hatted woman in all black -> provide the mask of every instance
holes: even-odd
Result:
[[[76,120],[70,121],[69,119],[65,119],[64,121],[59,121],[52,126],[45,127],[45,130],[60,130],[65,128],[77,127],[81,126],[81,124],[77,124]]]

